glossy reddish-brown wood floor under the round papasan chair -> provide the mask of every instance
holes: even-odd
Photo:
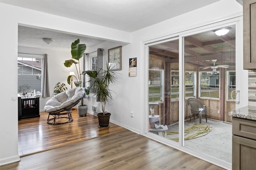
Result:
[[[98,128],[98,117],[87,114],[80,117],[72,110],[74,121],[60,125],[46,123],[48,113],[40,112],[40,117],[18,121],[19,155],[55,149],[96,137],[124,131],[123,127],[110,123],[109,128]]]

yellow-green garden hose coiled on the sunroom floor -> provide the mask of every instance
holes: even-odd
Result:
[[[207,135],[211,131],[210,126],[204,123],[196,123],[191,127],[188,127],[184,130],[184,140],[196,139],[198,137],[202,137]],[[175,135],[178,134],[178,131],[167,131],[166,135]],[[179,138],[171,139],[173,141],[178,142]]]

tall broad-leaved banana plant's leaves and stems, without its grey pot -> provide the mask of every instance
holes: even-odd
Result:
[[[84,56],[86,50],[86,45],[85,44],[80,44],[80,39],[77,39],[71,44],[71,55],[72,59],[66,60],[64,63],[64,66],[66,67],[71,67],[73,64],[76,66],[76,72],[77,72],[77,77],[76,76],[68,76],[68,84],[71,84],[71,78],[75,77],[77,82],[75,82],[76,87],[82,87],[83,82],[81,75],[82,73],[80,72],[80,59]],[[78,65],[78,66],[77,66]],[[88,95],[88,91],[86,91],[86,94]],[[81,100],[81,105],[84,106],[84,100],[82,98]]]

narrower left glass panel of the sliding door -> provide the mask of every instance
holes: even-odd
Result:
[[[178,141],[179,40],[148,48],[148,131]]]

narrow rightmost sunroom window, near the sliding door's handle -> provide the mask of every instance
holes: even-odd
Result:
[[[227,71],[227,99],[232,100],[231,92],[236,90],[236,72]],[[233,99],[236,99],[236,95],[233,96]]]

